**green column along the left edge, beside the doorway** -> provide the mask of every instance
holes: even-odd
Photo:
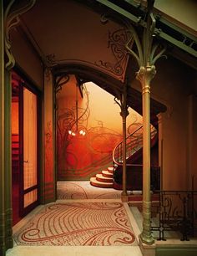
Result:
[[[13,247],[10,71],[4,65],[3,1],[0,19],[0,254]]]

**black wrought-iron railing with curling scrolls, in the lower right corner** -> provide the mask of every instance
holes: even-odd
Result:
[[[166,232],[176,232],[180,240],[197,235],[197,191],[158,191],[159,206],[152,212],[151,229],[159,232],[158,240],[166,240]]]

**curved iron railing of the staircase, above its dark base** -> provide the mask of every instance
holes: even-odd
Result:
[[[130,156],[133,156],[134,153],[139,151],[143,146],[143,133],[141,132],[141,136],[134,136],[135,133],[137,133],[140,129],[143,129],[143,125],[141,125],[138,129],[136,129],[134,132],[129,134],[129,136],[126,137],[126,158],[128,159]],[[157,135],[157,130],[154,128],[153,125],[151,125],[151,141],[154,139],[154,137]],[[120,141],[117,146],[114,147],[113,151],[113,161],[114,164],[117,166],[123,165],[123,156],[122,156],[122,150],[123,150],[123,141]]]

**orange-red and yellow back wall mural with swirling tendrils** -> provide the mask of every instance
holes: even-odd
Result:
[[[112,165],[114,147],[122,141],[120,110],[96,84],[83,84],[82,97],[75,77],[65,79],[56,94],[58,180],[88,180]],[[130,111],[129,133],[139,123],[141,116]]]

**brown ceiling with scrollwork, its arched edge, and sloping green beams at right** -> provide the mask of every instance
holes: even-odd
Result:
[[[125,23],[132,23],[140,36],[146,25],[146,6],[146,1],[138,0],[38,0],[20,16],[17,29],[28,38],[43,64],[53,66],[54,72],[65,72],[67,68],[82,79],[91,76],[91,80],[117,96],[125,80],[134,79],[136,71],[136,63],[124,46],[131,36]],[[197,69],[196,9],[194,0],[154,3],[154,40],[166,44],[166,54],[192,69]],[[129,99],[134,110],[141,112],[140,94],[130,91]],[[165,110],[156,101],[152,108],[155,114]]]

